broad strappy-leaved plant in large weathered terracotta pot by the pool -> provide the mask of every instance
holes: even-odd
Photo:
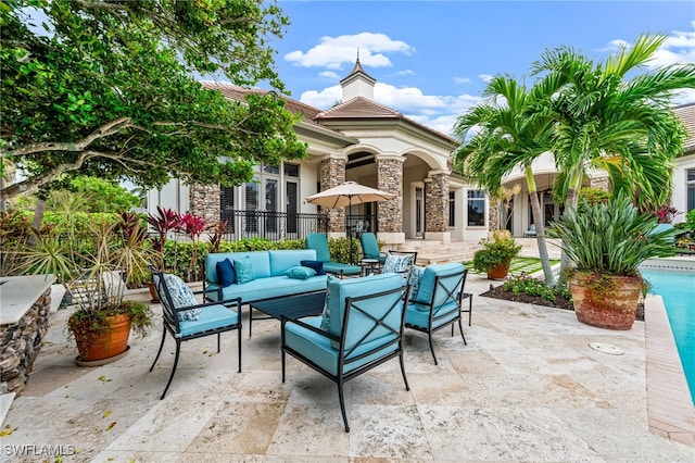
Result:
[[[632,327],[646,287],[640,264],[674,254],[674,230],[658,229],[657,222],[619,195],[605,203],[583,201],[581,212],[570,208],[548,229],[548,236],[563,240],[574,265],[569,287],[580,322],[608,329]]]

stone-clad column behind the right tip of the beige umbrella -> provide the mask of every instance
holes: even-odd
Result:
[[[403,232],[403,163],[405,158],[395,155],[377,157],[377,188],[395,195],[388,201],[380,201],[377,207],[379,215],[379,234]]]

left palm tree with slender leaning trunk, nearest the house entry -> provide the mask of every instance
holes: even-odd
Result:
[[[514,167],[523,168],[545,283],[554,286],[541,204],[531,168],[533,160],[552,146],[553,120],[538,110],[543,91],[542,87],[529,91],[509,76],[495,76],[483,92],[485,100],[456,121],[454,134],[462,145],[455,152],[455,162],[467,178],[488,191],[497,191],[502,178]],[[468,138],[473,130],[477,133]]]

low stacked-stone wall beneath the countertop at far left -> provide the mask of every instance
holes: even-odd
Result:
[[[0,326],[0,393],[18,393],[26,386],[48,330],[50,308],[49,288],[17,323]]]

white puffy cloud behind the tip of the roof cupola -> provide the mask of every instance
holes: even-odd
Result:
[[[306,52],[291,51],[285,54],[285,60],[302,67],[341,70],[343,64],[354,64],[357,50],[362,64],[372,67],[391,66],[387,53],[409,55],[415,52],[414,47],[402,40],[393,40],[386,34],[359,33],[338,37],[324,36],[316,47]]]

